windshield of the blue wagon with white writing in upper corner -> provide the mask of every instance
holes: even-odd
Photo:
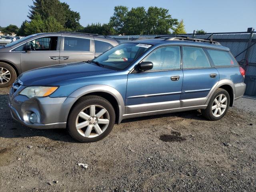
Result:
[[[93,62],[98,62],[102,66],[114,70],[124,70],[151,46],[149,44],[123,43],[104,52]]]

